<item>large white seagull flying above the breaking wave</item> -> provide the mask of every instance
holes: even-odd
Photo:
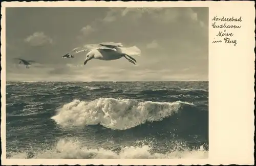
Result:
[[[136,65],[137,61],[131,56],[140,56],[141,53],[140,49],[136,46],[123,47],[122,43],[104,42],[99,44],[87,44],[81,48],[74,48],[66,55],[73,57],[72,54],[76,54],[82,51],[89,51],[86,54],[86,59],[83,63],[84,65],[86,65],[87,62],[92,59],[112,61],[122,57]]]

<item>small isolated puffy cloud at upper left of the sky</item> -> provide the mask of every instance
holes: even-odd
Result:
[[[53,44],[53,40],[44,34],[44,32],[35,32],[24,39],[26,43],[31,46],[43,46],[46,44]]]

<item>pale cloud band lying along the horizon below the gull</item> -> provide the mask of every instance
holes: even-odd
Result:
[[[83,65],[66,64],[64,66],[45,66],[44,69],[20,67],[22,75],[18,72],[9,73],[8,80],[30,81],[167,81],[167,80],[205,80],[207,74],[201,75],[190,69],[152,69],[152,68],[116,68],[113,66],[92,66],[84,68]],[[36,76],[34,75],[36,74]]]

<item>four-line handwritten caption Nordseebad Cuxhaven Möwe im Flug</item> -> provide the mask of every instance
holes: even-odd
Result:
[[[233,44],[234,46],[236,46],[238,41],[236,38],[234,38],[235,36],[234,32],[231,32],[230,29],[240,29],[242,25],[240,25],[239,23],[242,22],[242,17],[236,18],[236,17],[215,16],[211,20],[214,21],[211,24],[211,26],[214,29],[221,29],[218,32],[218,34],[215,35],[212,43],[227,43],[227,44]]]

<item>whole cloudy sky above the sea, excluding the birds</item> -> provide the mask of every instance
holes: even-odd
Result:
[[[137,66],[61,58],[111,41],[139,47]],[[8,81],[208,80],[208,8],[7,8],[6,72]]]

